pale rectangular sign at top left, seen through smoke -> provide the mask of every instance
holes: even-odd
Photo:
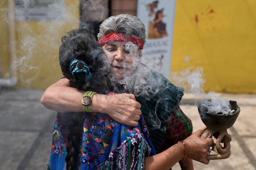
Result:
[[[14,4],[17,21],[65,19],[64,0],[14,0]]]

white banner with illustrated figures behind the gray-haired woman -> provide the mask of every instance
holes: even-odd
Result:
[[[138,0],[137,16],[146,27],[142,63],[170,78],[176,0]]]

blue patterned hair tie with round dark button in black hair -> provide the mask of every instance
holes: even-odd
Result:
[[[74,77],[75,73],[84,72],[85,77],[92,78],[94,73],[90,72],[89,66],[81,60],[72,60],[69,65],[69,71],[72,73],[72,76]]]

